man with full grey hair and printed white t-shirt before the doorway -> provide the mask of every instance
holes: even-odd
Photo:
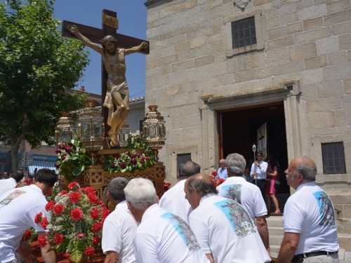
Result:
[[[255,184],[246,182],[242,177],[246,167],[245,158],[240,154],[229,154],[225,163],[227,164],[228,178],[217,187],[218,196],[237,201],[245,208],[251,220],[256,223],[263,245],[270,255],[270,240],[265,219],[267,208],[260,189]]]

